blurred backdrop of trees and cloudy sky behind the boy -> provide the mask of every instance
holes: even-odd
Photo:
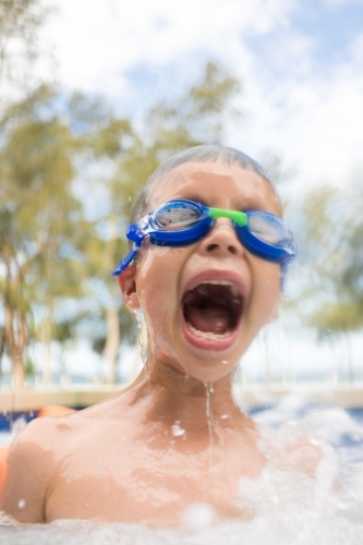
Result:
[[[168,156],[238,147],[300,247],[237,380],[363,382],[362,0],[0,0],[0,385],[130,382],[111,271]]]

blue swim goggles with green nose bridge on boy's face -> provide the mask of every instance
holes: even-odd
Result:
[[[218,218],[229,218],[243,246],[253,254],[282,266],[297,256],[293,234],[275,214],[262,210],[209,208],[193,201],[176,199],[160,205],[138,223],[128,227],[133,241],[129,254],[113,270],[119,276],[135,258],[146,237],[157,246],[184,246],[205,237]]]

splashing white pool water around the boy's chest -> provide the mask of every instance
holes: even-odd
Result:
[[[363,409],[312,405],[300,397],[291,396],[276,407],[251,413],[267,428],[262,448],[266,448],[271,437],[279,445],[303,435],[317,441],[325,453],[316,479],[283,471],[269,463],[258,480],[241,480],[241,501],[256,513],[252,520],[218,520],[208,505],[190,506],[179,529],[86,521],[23,526],[2,514],[0,543],[362,545]],[[24,415],[20,417],[24,419]],[[19,427],[24,422],[25,419]],[[2,433],[0,439],[3,444],[9,443],[12,435]]]

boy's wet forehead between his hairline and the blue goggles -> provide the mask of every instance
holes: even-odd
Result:
[[[276,211],[281,211],[280,201],[271,184],[258,172],[243,169],[239,165],[228,165],[223,161],[189,162],[173,168],[170,172],[155,180],[149,190],[150,208],[170,199],[184,197],[205,202],[210,206],[221,206],[214,203],[221,195],[237,202],[239,197],[246,199],[250,207],[262,207],[273,198]],[[229,205],[229,203],[228,203]]]

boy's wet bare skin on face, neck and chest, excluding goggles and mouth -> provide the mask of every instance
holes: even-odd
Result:
[[[279,214],[258,174],[221,162],[190,164],[159,181],[149,208],[190,198],[234,210]],[[182,296],[201,279],[227,280],[243,295],[238,328],[191,342]],[[117,396],[66,417],[35,421],[11,448],[2,509],[22,522],[55,519],[178,522],[186,506],[210,502],[219,516],[249,516],[237,505],[240,476],[265,464],[253,421],[237,407],[231,380],[241,355],[273,318],[279,266],[250,254],[228,219],[199,242],[157,247],[119,277],[125,304],[146,317],[148,361]],[[219,343],[219,344],[218,344]],[[206,386],[210,393],[210,426]]]

